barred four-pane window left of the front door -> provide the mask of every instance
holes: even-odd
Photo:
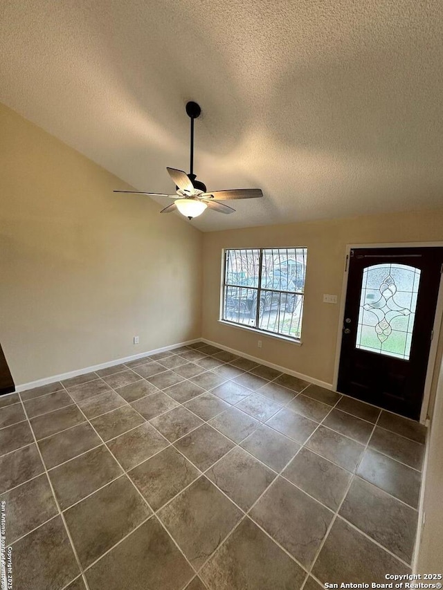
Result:
[[[300,339],[307,248],[224,252],[221,319]]]

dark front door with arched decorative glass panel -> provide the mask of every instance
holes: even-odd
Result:
[[[443,248],[350,252],[338,391],[419,419]]]

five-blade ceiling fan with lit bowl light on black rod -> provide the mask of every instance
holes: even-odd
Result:
[[[190,173],[186,174],[183,170],[177,170],[175,168],[166,168],[176,185],[176,194],[141,192],[136,190],[114,190],[114,192],[147,194],[148,196],[168,196],[170,199],[175,199],[175,201],[172,205],[168,205],[168,207],[162,209],[161,213],[172,213],[172,211],[179,210],[188,219],[201,215],[206,208],[213,209],[219,213],[235,212],[235,209],[228,207],[224,203],[219,203],[219,201],[228,201],[228,199],[257,199],[257,197],[263,196],[260,189],[232,189],[207,192],[206,185],[197,181],[197,176],[194,174],[194,120],[201,113],[197,102],[188,102],[186,104],[186,113],[188,113],[191,120]],[[178,199],[177,195],[179,196]]]

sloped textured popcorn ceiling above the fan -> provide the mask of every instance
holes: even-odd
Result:
[[[192,221],[204,231],[432,208],[442,30],[441,0],[3,0],[0,101],[170,192],[197,100],[198,178],[264,192]]]

